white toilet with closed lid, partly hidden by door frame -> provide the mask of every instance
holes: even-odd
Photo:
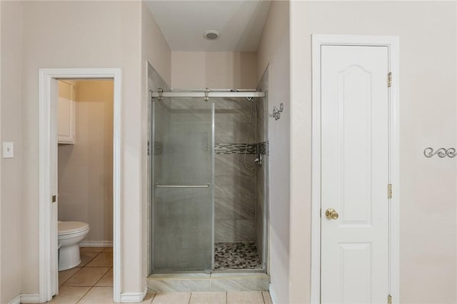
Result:
[[[88,223],[58,222],[58,240],[61,243],[59,251],[59,271],[74,268],[81,263],[79,258],[79,242],[89,233]]]

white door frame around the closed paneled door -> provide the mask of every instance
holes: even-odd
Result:
[[[392,85],[389,98],[389,163],[393,196],[389,203],[389,294],[399,303],[399,39],[398,36],[312,35],[311,135],[311,303],[321,303],[321,46],[387,46]],[[387,75],[386,75],[387,84]],[[387,195],[387,185],[386,185]],[[387,295],[386,295],[387,303]]]

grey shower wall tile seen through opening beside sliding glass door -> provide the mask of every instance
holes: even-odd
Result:
[[[256,173],[246,169],[243,154],[246,142],[250,143],[246,163],[252,166],[256,113],[251,121],[251,102],[243,98],[217,98],[215,105],[215,238],[220,242],[255,241]]]

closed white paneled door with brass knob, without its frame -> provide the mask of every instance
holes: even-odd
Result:
[[[388,62],[321,46],[321,303],[387,303]]]

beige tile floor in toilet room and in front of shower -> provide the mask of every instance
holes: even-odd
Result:
[[[59,295],[50,303],[113,302],[113,248],[81,247],[81,264],[59,271]],[[268,291],[149,293],[148,304],[271,304]]]

